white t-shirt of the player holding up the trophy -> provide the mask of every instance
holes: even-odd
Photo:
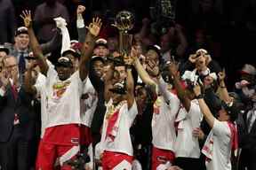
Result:
[[[111,99],[110,101],[111,102]],[[107,111],[108,112],[108,107]],[[100,151],[114,151],[114,152],[121,152],[127,155],[133,156],[133,149],[132,149],[132,140],[130,136],[130,128],[132,127],[133,120],[136,118],[138,114],[137,104],[134,100],[132,107],[128,110],[127,103],[123,104],[119,110],[118,119],[119,127],[117,129],[116,137],[114,141],[106,137],[107,135],[107,128],[108,128],[108,120],[106,118],[107,114],[105,114],[103,128],[102,128],[102,135],[100,140]]]

